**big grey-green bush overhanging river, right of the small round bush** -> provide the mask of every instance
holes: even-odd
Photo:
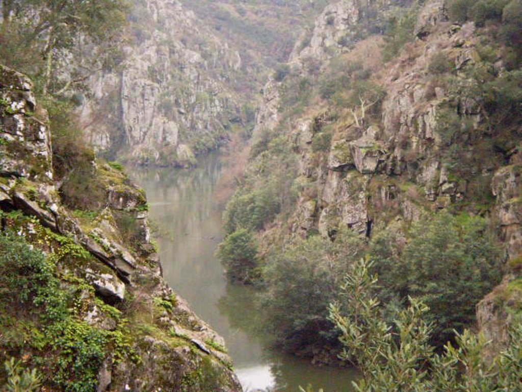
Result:
[[[341,230],[335,241],[311,236],[269,256],[261,308],[267,328],[276,332],[285,350],[335,344],[328,304],[352,260],[361,256],[362,245],[354,234]]]

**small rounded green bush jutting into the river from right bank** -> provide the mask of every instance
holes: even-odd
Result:
[[[257,244],[247,229],[238,228],[229,234],[219,244],[217,256],[227,268],[230,280],[242,283],[255,280]]]

